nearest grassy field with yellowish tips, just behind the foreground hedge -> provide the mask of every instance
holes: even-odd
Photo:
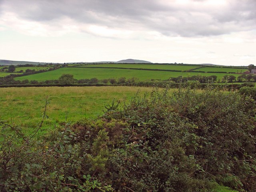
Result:
[[[138,87],[27,87],[0,88],[0,120],[17,124],[31,133],[42,120],[45,98],[48,95],[42,133],[53,129],[58,122],[74,122],[82,118],[97,118],[102,115],[104,105],[113,98],[124,101],[140,90],[140,95],[152,88]]]

